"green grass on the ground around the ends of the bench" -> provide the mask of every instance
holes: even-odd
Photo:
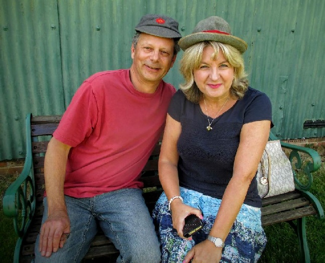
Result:
[[[321,156],[321,167],[313,173],[313,184],[310,192],[317,197],[325,208],[325,146],[312,147]],[[0,175],[0,200],[17,176]],[[325,262],[325,220],[315,217],[307,217],[306,220],[307,241],[312,263]],[[296,263],[299,262],[298,239],[294,230],[287,223],[279,223],[264,227],[268,243],[262,254],[260,263]],[[0,258],[1,262],[13,262],[16,244],[16,233],[12,219],[0,211]]]

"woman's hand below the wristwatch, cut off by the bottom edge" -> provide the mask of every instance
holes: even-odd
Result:
[[[222,247],[216,247],[209,240],[205,240],[194,247],[186,254],[183,263],[211,262],[218,263],[221,260]],[[191,261],[191,259],[193,259]]]

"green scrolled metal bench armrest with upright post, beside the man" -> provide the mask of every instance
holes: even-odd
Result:
[[[31,114],[26,116],[26,159],[22,173],[5,192],[3,210],[14,219],[17,235],[22,237],[35,212],[35,179],[32,162]]]

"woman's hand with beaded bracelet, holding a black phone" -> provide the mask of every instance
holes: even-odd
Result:
[[[189,239],[184,237],[183,235],[183,227],[185,224],[185,217],[190,214],[194,214],[200,219],[203,218],[202,213],[199,209],[196,209],[192,206],[183,204],[181,200],[175,199],[171,205],[172,210],[172,219],[173,219],[173,227],[177,230],[177,233],[180,237],[184,239]],[[190,237],[191,239],[191,237]]]

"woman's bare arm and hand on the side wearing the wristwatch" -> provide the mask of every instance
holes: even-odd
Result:
[[[219,237],[224,241],[229,234],[257,171],[269,131],[269,120],[254,121],[243,125],[235,156],[233,176],[223,195],[216,220],[210,231],[211,236]],[[205,259],[212,262],[211,258],[216,258],[216,262],[219,262],[221,251],[221,247],[216,247],[211,241],[205,240],[186,255],[184,262],[190,262],[194,255],[203,262]],[[195,262],[195,258],[192,262]]]

